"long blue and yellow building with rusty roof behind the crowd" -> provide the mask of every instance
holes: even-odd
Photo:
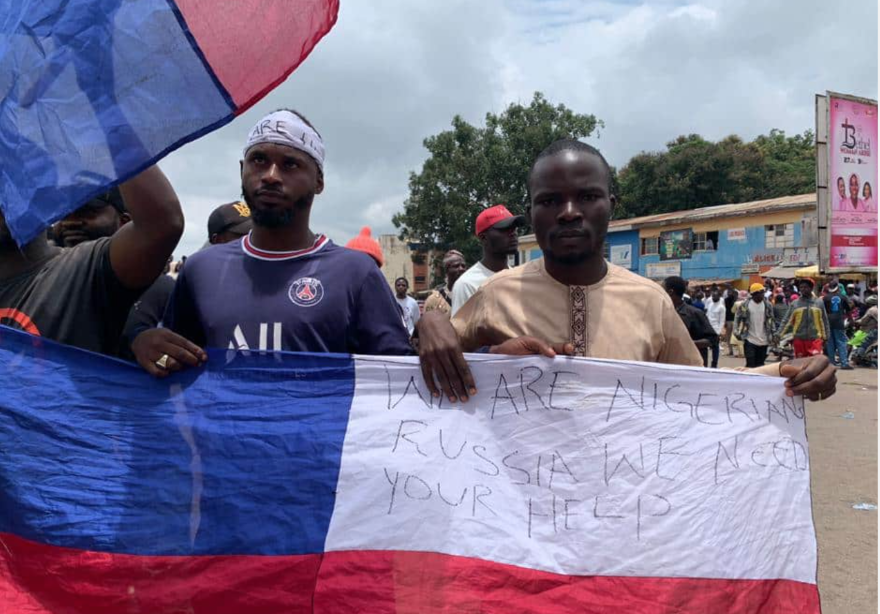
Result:
[[[680,275],[744,289],[763,277],[793,277],[818,261],[816,195],[613,220],[605,250],[610,262],[658,281]],[[534,235],[520,239],[519,255],[541,256]]]

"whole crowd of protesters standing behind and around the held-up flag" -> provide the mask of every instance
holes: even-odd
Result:
[[[424,313],[405,278],[393,289],[385,281],[382,250],[368,229],[347,247],[311,229],[324,155],[320,132],[302,114],[282,109],[261,119],[242,152],[243,200],[211,214],[205,247],[174,271],[176,278],[163,273],[183,212],[158,167],[69,215],[51,229],[51,240],[44,235],[19,248],[0,217],[2,323],[128,358],[155,377],[198,368],[207,348],[417,351],[431,392],[462,402],[477,384],[463,352],[685,366],[709,366],[711,352],[717,367],[719,340],[732,351],[736,339],[745,368],[786,378],[788,394],[821,400],[835,391],[835,368],[817,342],[836,343],[834,314],[851,309],[851,298],[835,299],[844,295],[839,286],[821,299],[809,280],[799,295],[779,288],[782,316],[769,284],[745,297],[729,287],[691,295],[681,278],[661,286],[609,263],[603,244],[615,205],[611,171],[587,144],[564,139],[537,156],[526,178],[525,216],[503,205],[480,213],[474,229],[482,257],[468,267],[460,252],[449,251],[445,283]],[[543,258],[508,268],[526,224]],[[872,317],[876,337],[876,306]],[[768,348],[788,332],[793,358],[765,364]]]

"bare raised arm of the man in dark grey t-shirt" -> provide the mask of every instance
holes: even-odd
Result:
[[[110,265],[127,288],[139,290],[164,270],[180,236],[183,211],[158,166],[120,184],[131,221],[110,239]]]

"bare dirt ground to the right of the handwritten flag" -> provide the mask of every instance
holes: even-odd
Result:
[[[819,594],[823,614],[866,614],[877,611],[877,511],[853,505],[877,505],[877,371],[837,375],[837,394],[807,408]]]

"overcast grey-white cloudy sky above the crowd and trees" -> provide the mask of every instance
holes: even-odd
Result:
[[[877,98],[877,23],[876,0],[341,0],[336,27],[284,84],[161,163],[186,212],[176,255],[238,198],[244,138],[278,107],[325,138],[312,228],[344,243],[363,225],[394,232],[422,140],[455,114],[482,123],[541,91],[602,119],[592,143],[618,167],[679,134],[802,132],[816,93]]]

